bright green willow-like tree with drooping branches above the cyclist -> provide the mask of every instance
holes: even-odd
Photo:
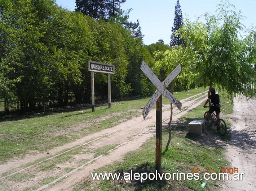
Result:
[[[187,22],[179,34],[186,46],[200,55],[195,64],[204,87],[218,87],[230,96],[252,96],[255,31],[240,39],[243,16],[232,10],[234,5],[229,1],[222,3],[218,5],[218,17],[206,14],[206,23]]]

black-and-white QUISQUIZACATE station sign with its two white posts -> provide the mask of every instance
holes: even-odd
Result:
[[[105,64],[101,62],[95,62],[89,60],[88,70],[92,72],[92,112],[94,112],[94,72],[101,72],[108,74],[108,90],[109,90],[109,107],[111,107],[111,85],[110,85],[110,74],[115,74],[115,66]]]

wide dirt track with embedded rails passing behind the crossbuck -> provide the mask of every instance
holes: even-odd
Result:
[[[174,109],[173,121],[184,115],[188,110],[202,104],[205,97],[206,93],[182,100],[182,110]],[[162,119],[165,121],[163,125],[168,123],[169,107],[169,104],[163,106]],[[30,155],[24,160],[1,165],[1,173],[10,170],[13,173],[0,178],[0,187],[3,190],[23,190],[26,188],[70,190],[74,185],[89,177],[95,169],[111,164],[116,160],[121,160],[125,153],[140,148],[147,139],[154,135],[155,110],[152,110],[146,120],[143,120],[142,115],[140,115],[115,127],[54,148],[49,151],[51,155],[49,159],[26,168],[24,168],[24,164],[34,162],[43,158],[43,156],[40,154]],[[102,148],[108,150],[107,154],[97,154],[97,150]],[[60,183],[56,183],[58,181]]]

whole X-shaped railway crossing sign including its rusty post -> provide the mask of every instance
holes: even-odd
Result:
[[[156,103],[156,147],[155,147],[155,169],[158,172],[162,171],[162,95],[166,97],[172,104],[174,104],[179,110],[181,110],[181,102],[178,101],[167,89],[166,87],[171,83],[171,81],[180,73],[181,65],[178,65],[176,69],[161,83],[161,81],[156,77],[153,71],[147,66],[143,61],[141,64],[141,70],[150,79],[150,81],[155,85],[157,90],[151,97],[146,107],[142,111],[143,118],[147,117],[150,110],[153,108],[154,103]]]

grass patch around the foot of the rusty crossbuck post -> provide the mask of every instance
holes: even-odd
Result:
[[[181,127],[182,128],[182,127]],[[183,127],[185,128],[185,127]],[[227,167],[228,161],[224,159],[224,149],[215,145],[204,145],[193,136],[187,134],[172,133],[172,144],[167,151],[162,153],[162,172],[191,173],[193,168],[199,170],[200,179],[207,168],[213,168],[216,173],[220,172],[220,167]],[[163,144],[168,140],[168,131],[163,131]],[[123,171],[131,173],[142,173],[155,170],[155,138],[151,138],[140,150],[129,152],[125,155],[122,162],[98,169],[93,173]],[[183,175],[181,176],[183,177]],[[74,190],[202,190],[200,185],[202,180],[146,180],[145,184],[139,181],[125,183],[118,180],[85,181],[82,185],[75,187]],[[207,181],[207,188],[211,190],[216,187],[216,181]]]

